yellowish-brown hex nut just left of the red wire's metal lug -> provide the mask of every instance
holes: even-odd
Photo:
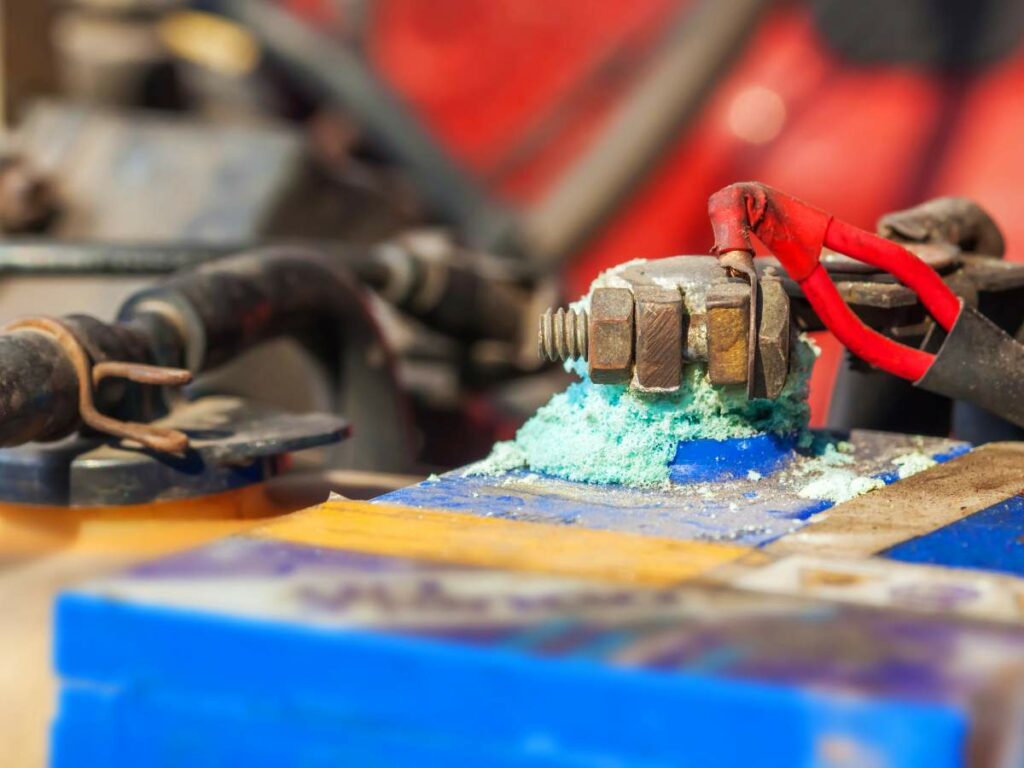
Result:
[[[712,384],[744,384],[748,376],[751,289],[746,283],[720,283],[708,291],[708,378]]]

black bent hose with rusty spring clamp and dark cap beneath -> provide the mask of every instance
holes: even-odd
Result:
[[[166,387],[284,334],[308,343],[336,372],[337,411],[359,413],[364,428],[334,451],[331,465],[411,466],[409,406],[367,291],[323,254],[279,248],[221,259],[141,291],[117,323],[69,315],[8,325],[0,334],[0,442],[58,442],[0,452],[5,498],[136,504],[214,493],[232,486],[227,470],[243,459],[263,466],[338,439],[345,428],[334,416],[168,396]],[[146,451],[132,451],[135,443]],[[226,474],[215,469],[225,464]]]

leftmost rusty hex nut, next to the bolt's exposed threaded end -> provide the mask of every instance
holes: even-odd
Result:
[[[633,376],[633,292],[596,288],[590,297],[590,378],[629,384]]]

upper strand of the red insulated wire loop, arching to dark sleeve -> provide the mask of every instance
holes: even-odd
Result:
[[[925,308],[946,331],[959,316],[961,300],[956,294],[946,287],[938,272],[905,248],[838,219],[829,222],[824,244],[894,274],[918,294]]]

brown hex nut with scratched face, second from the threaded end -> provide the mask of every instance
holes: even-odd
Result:
[[[637,389],[672,392],[679,389],[683,368],[683,297],[678,289],[637,286]]]

